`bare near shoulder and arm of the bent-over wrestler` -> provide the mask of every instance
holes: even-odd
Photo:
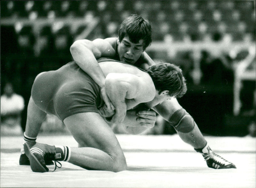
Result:
[[[155,97],[155,87],[144,77],[110,73],[106,76],[105,83],[107,95],[116,110],[111,123],[122,122],[128,109]]]

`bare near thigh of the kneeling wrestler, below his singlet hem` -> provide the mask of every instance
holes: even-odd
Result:
[[[114,152],[123,155],[116,135],[99,113],[77,113],[65,118],[63,122],[79,147],[92,147],[109,154]]]

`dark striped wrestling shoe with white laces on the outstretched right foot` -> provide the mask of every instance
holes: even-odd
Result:
[[[206,144],[203,149],[195,149],[196,152],[199,152],[203,155],[204,160],[207,163],[209,168],[213,169],[236,169],[236,166],[227,161],[226,159],[222,158],[220,155],[215,154],[211,148]]]

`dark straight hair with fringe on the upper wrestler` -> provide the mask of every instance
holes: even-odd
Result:
[[[145,50],[152,41],[149,21],[136,14],[127,17],[118,29],[119,40],[122,41],[125,36],[128,36],[132,43],[139,43],[139,40],[142,39]]]

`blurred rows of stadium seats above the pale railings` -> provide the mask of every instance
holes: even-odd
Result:
[[[100,24],[90,38],[117,35],[118,25],[130,14],[148,18],[152,24],[153,40],[255,40],[254,1],[2,1],[1,18],[37,21],[38,19],[99,18]],[[87,25],[55,25],[65,34],[77,36]],[[59,28],[57,28],[59,27]],[[29,32],[29,31],[27,31]],[[44,34],[43,34],[44,33]],[[48,34],[49,34],[48,33]],[[64,33],[63,33],[64,34]]]

